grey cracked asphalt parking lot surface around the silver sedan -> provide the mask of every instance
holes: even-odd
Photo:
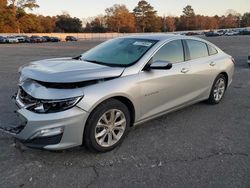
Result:
[[[219,105],[195,104],[131,130],[105,154],[20,147],[0,133],[0,187],[250,187],[250,36],[206,38],[236,60]],[[17,123],[18,67],[77,56],[100,41],[0,45],[0,126]]]

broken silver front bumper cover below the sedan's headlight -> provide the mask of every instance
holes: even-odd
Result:
[[[17,110],[21,121],[25,121],[23,129],[14,137],[24,145],[48,150],[67,149],[82,144],[84,125],[88,112],[77,106],[58,113],[37,114],[27,109]],[[23,123],[22,123],[23,124]],[[44,137],[33,137],[42,130],[62,128],[61,134]]]

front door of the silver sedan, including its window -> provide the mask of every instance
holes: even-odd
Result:
[[[178,107],[192,99],[189,85],[190,64],[184,60],[181,40],[168,42],[153,56],[151,62],[168,61],[173,64],[169,70],[141,71],[141,118],[156,115]]]

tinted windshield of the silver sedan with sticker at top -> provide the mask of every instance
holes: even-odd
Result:
[[[85,52],[81,59],[108,66],[127,67],[136,63],[156,42],[136,38],[113,39]]]

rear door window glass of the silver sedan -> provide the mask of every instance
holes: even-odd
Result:
[[[208,56],[207,45],[197,40],[186,40],[191,59]]]

